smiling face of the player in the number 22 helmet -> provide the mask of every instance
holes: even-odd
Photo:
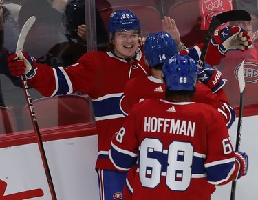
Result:
[[[137,30],[116,32],[113,44],[115,53],[118,57],[124,59],[134,57],[136,49],[139,46],[139,35]]]

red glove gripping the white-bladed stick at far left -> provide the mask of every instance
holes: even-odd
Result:
[[[21,77],[23,74],[31,79],[36,74],[36,60],[27,52],[14,52],[8,57],[8,66],[13,76]]]

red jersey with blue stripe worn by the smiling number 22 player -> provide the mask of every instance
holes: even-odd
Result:
[[[38,64],[28,82],[44,96],[79,91],[92,98],[98,131],[96,168],[114,169],[108,151],[112,135],[125,121],[125,84],[133,77],[146,77],[147,70],[141,51],[133,62],[116,59],[111,52],[89,52],[67,68]]]

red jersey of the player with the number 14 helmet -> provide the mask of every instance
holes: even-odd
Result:
[[[161,79],[156,79],[152,76],[131,79],[125,86],[127,110],[131,110],[133,104],[139,103],[144,99],[165,99],[164,94],[165,87]],[[210,88],[198,82],[196,84],[195,96],[191,101],[213,106],[213,108],[217,109],[222,114],[228,128],[230,128],[235,121],[235,112],[228,103],[228,99],[222,89],[212,94]]]

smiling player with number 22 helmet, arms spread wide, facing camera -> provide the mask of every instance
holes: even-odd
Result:
[[[177,32],[173,21],[169,17],[165,19],[164,30],[170,32],[171,28],[171,32]],[[79,91],[92,98],[98,132],[96,170],[100,199],[114,199],[114,194],[122,199],[127,173],[116,170],[108,151],[112,135],[118,132],[127,116],[123,98],[125,84],[133,77],[147,76],[149,71],[140,46],[140,31],[140,21],[131,10],[117,10],[109,20],[109,39],[114,45],[109,52],[88,52],[71,66],[54,68],[36,63],[26,52],[15,52],[8,57],[12,75],[25,74],[28,83],[43,96]],[[211,46],[208,52],[220,54],[215,50],[217,46]]]

